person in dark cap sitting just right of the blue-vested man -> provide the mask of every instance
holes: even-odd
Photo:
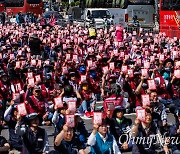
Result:
[[[132,143],[126,142],[127,138],[125,137],[127,135],[130,136],[132,120],[124,116],[125,112],[126,109],[124,107],[117,106],[113,111],[112,118],[110,118],[110,110],[107,111],[106,117],[110,125],[110,132],[115,137],[121,152],[132,150]],[[121,141],[120,143],[119,140]]]

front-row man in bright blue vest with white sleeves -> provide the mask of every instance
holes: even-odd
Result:
[[[88,138],[87,144],[90,145],[90,153],[104,154],[115,153],[120,154],[116,139],[112,134],[108,133],[107,121],[102,120],[102,124],[93,125],[93,131]]]

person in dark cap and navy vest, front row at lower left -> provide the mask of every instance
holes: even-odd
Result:
[[[45,129],[39,127],[40,119],[37,113],[27,115],[28,125],[21,126],[21,116],[17,115],[16,134],[23,138],[23,151],[26,154],[46,154],[49,152],[49,141]]]

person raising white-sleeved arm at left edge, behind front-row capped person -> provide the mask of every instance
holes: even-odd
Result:
[[[15,126],[17,123],[17,108],[14,104],[14,101],[11,100],[10,102],[10,106],[6,109],[5,113],[4,113],[4,120],[6,121],[7,125],[8,125],[8,129],[9,129],[9,144],[11,146],[11,150],[13,152],[22,152],[22,148],[23,148],[23,141],[21,136],[17,135],[15,133]],[[23,123],[23,121],[22,121]]]

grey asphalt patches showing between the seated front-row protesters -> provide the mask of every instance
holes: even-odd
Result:
[[[96,107],[97,108],[101,108],[102,106],[102,103],[101,102],[98,102],[96,104]],[[125,114],[126,117],[128,118],[131,118],[132,121],[134,122],[135,120],[135,113],[131,113],[131,114]],[[92,119],[91,118],[85,118],[85,117],[82,117],[82,119],[84,120],[85,122],[85,125],[86,125],[86,128],[88,130],[89,133],[91,133],[92,131]],[[175,121],[174,119],[174,116],[173,114],[171,113],[168,113],[168,123],[169,124],[173,124]],[[50,150],[53,150],[53,141],[54,141],[54,136],[53,136],[53,133],[54,133],[54,127],[53,126],[43,126],[43,128],[46,129],[47,131],[47,134],[48,134],[48,138],[49,138],[49,144],[50,144]],[[2,131],[2,136],[4,136],[6,139],[8,139],[9,137],[9,133],[8,133],[8,129],[4,129]],[[130,153],[126,153],[126,154],[130,154]]]

